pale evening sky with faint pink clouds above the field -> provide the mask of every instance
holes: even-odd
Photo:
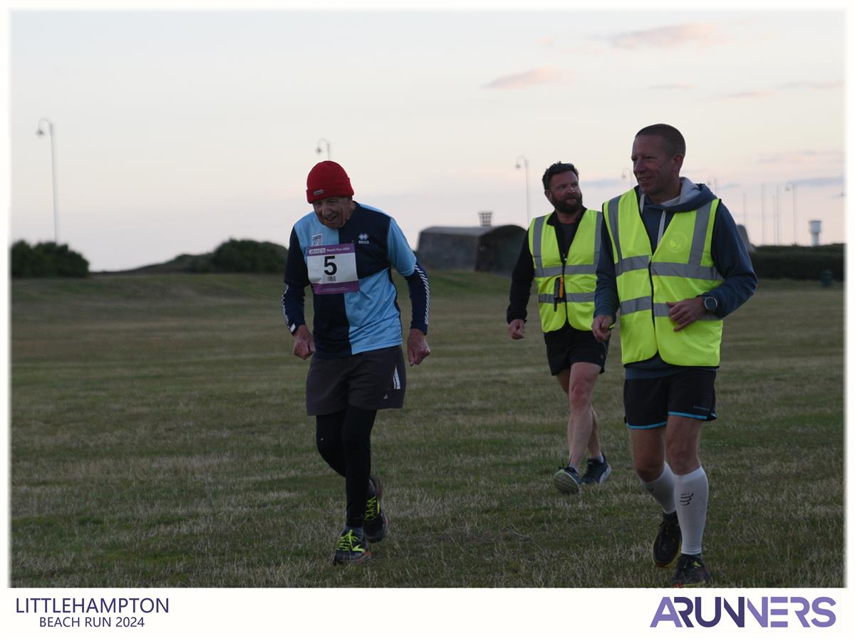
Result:
[[[842,242],[844,31],[805,10],[13,10],[9,242],[54,239],[55,179],[59,242],[93,271],[287,244],[328,148],[417,249],[480,211],[527,226],[559,160],[599,209],[655,122],[753,244],[809,244],[813,219]]]

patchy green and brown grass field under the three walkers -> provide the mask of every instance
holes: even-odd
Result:
[[[511,342],[506,279],[430,276],[433,355],[374,427],[389,535],[345,568],[344,481],[315,451],[279,277],[14,281],[12,585],[667,585],[619,340],[594,401],[614,471],[561,495],[568,410],[534,303]],[[725,323],[701,442],[716,586],[844,585],[843,315],[840,284],[764,281]]]

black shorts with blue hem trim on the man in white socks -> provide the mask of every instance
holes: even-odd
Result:
[[[630,429],[662,427],[669,415],[716,420],[716,372],[687,368],[660,379],[623,381],[623,420]]]

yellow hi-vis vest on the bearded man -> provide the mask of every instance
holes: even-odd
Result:
[[[593,209],[582,212],[565,262],[561,260],[556,229],[546,223],[551,215],[535,218],[528,226],[540,326],[544,332],[554,332],[568,322],[590,332],[603,215]]]

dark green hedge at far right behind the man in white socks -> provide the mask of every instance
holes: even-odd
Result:
[[[828,270],[834,280],[843,280],[845,255],[844,244],[771,245],[756,248],[751,260],[759,279],[819,280]]]

